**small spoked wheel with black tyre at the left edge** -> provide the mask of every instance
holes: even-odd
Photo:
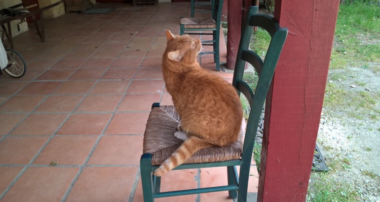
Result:
[[[7,72],[9,76],[14,78],[20,78],[24,76],[26,72],[26,63],[22,56],[14,49],[5,49],[7,53],[9,67],[5,68],[4,71]]]

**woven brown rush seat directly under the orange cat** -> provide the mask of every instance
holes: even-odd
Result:
[[[161,165],[182,144],[174,137],[180,118],[174,106],[155,107],[149,114],[143,142],[143,154],[152,154],[151,165]],[[240,159],[242,135],[229,146],[211,147],[197,151],[185,163],[207,163]]]

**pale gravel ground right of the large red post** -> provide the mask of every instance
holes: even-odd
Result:
[[[372,67],[376,65],[378,67],[380,64],[371,64]],[[378,93],[380,73],[375,73],[372,69],[350,67],[344,70],[330,70],[328,82],[334,83],[338,89]],[[345,78],[333,80],[336,75]],[[361,85],[356,86],[355,83]],[[335,92],[327,92],[325,96],[333,93]],[[349,118],[349,113],[356,113],[355,109],[346,106],[342,108],[346,110],[324,109],[319,127],[318,144],[326,163],[331,165],[336,161],[341,164],[349,162],[345,164],[344,169],[331,172],[330,177],[337,183],[351,185],[359,193],[361,201],[380,202],[380,121],[378,118]],[[380,110],[378,101],[374,109]],[[369,173],[374,175],[370,177]]]

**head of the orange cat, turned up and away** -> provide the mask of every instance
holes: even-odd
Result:
[[[201,52],[202,43],[200,39],[194,39],[191,36],[173,35],[166,30],[166,39],[168,40],[166,52],[167,58],[174,62],[193,63],[197,60]]]

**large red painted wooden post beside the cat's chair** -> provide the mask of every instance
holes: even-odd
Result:
[[[339,0],[276,0],[286,39],[267,97],[257,201],[305,201]]]

